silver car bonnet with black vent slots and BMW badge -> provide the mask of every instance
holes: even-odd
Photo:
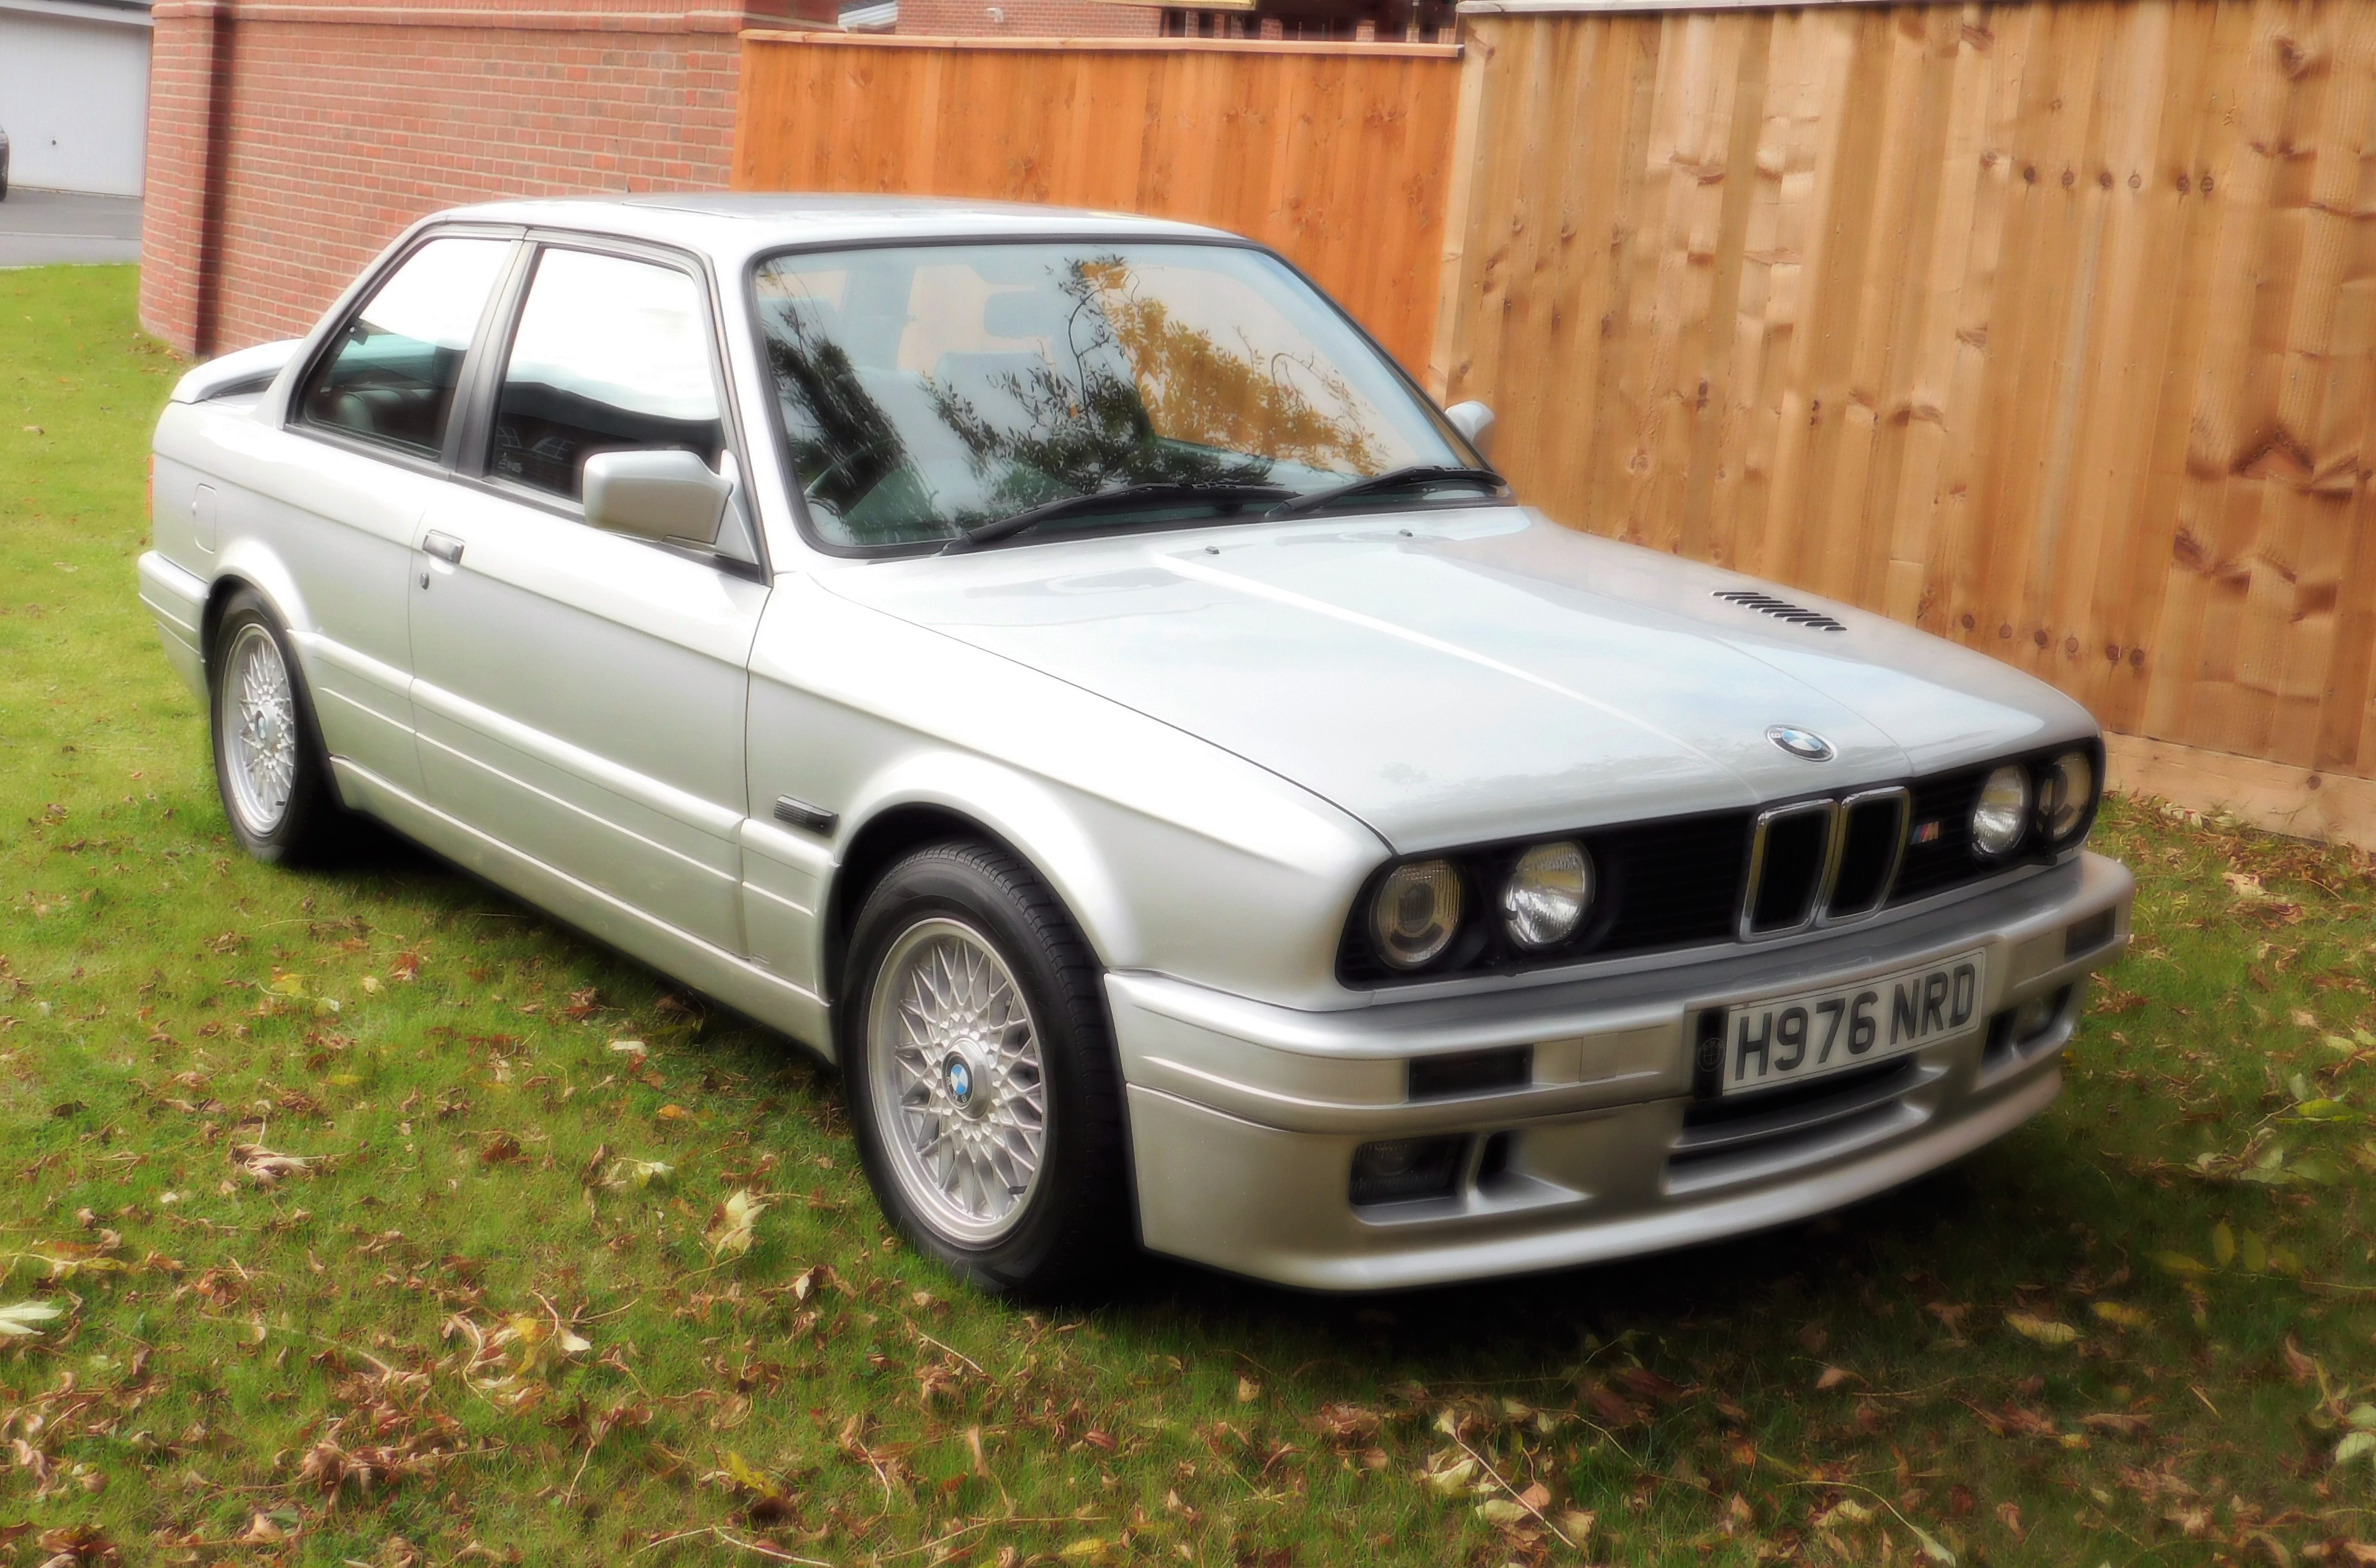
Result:
[[[1903,779],[2093,732],[1884,618],[1521,508],[839,563],[827,587],[1186,729],[1402,853]],[[958,701],[977,701],[960,696]],[[1768,729],[1813,732],[1820,763]]]

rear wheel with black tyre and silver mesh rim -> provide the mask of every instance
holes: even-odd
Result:
[[[214,784],[230,832],[257,860],[321,860],[347,836],[314,722],[314,696],[287,632],[249,589],[233,594],[214,627],[207,687]]]

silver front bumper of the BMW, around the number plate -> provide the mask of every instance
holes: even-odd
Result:
[[[1316,1290],[1561,1269],[1758,1231],[1960,1159],[2046,1109],[2086,974],[2129,946],[2136,879],[2079,855],[2022,881],[1782,948],[1561,984],[1297,1012],[1107,976],[1155,1252]],[[1979,1022],[1837,1093],[1711,1124],[1706,1007],[1984,948]],[[2015,1014],[2024,1003],[2024,1029]],[[1533,1081],[1409,1098],[1409,1064],[1533,1048]],[[1696,1109],[1694,1109],[1696,1107]],[[1454,1190],[1357,1207],[1352,1155],[1466,1133]]]

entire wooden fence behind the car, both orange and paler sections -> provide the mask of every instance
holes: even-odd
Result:
[[[2376,0],[1468,24],[1459,59],[751,36],[737,183],[1269,240],[1495,404],[1552,516],[1986,649],[2131,777],[2376,841]]]

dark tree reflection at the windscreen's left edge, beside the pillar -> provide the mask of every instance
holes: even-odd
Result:
[[[915,482],[898,428],[867,397],[848,352],[798,302],[784,302],[765,337],[801,494],[832,508],[858,544],[912,537],[929,497]]]

